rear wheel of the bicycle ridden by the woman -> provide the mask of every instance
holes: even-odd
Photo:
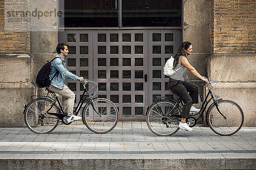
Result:
[[[179,128],[180,118],[174,115],[181,115],[180,107],[174,111],[175,102],[169,100],[159,100],[148,108],[146,122],[148,128],[158,136],[171,136]],[[168,114],[172,116],[168,116]]]

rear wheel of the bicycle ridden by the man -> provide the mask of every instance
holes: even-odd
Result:
[[[49,113],[59,113],[57,105],[51,108],[52,100],[45,98],[29,102],[24,110],[26,126],[34,133],[50,133],[58,126],[59,119]]]

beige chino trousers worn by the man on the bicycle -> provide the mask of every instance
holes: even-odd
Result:
[[[73,108],[74,108],[74,103],[75,103],[75,94],[73,91],[71,91],[67,85],[64,85],[64,89],[61,90],[59,88],[56,88],[52,85],[49,85],[48,89],[56,94],[61,95],[64,97],[64,101],[62,102],[62,108],[63,111],[66,110],[67,108],[67,115],[71,116],[73,114]]]

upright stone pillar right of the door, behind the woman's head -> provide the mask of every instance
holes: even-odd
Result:
[[[184,1],[183,41],[192,43],[193,52],[188,56],[190,64],[201,75],[207,74],[207,57],[210,55],[210,3],[209,0],[186,0]],[[200,80],[186,71],[185,79]]]

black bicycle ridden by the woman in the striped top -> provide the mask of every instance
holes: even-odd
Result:
[[[210,83],[212,81],[207,77]],[[212,94],[212,90],[207,84],[208,94],[204,99],[203,105],[198,113],[190,113],[186,120],[189,127],[194,127],[199,119],[203,117],[204,111],[210,101],[212,104],[206,112],[207,124],[211,130],[218,135],[229,136],[240,130],[244,123],[244,113],[241,107],[231,100],[218,99],[220,94]],[[209,100],[208,97],[211,96]],[[159,100],[156,100],[156,99]],[[168,98],[162,96],[154,97],[154,102],[147,108],[146,122],[148,128],[158,136],[171,136],[179,128],[181,120],[181,110],[183,102],[180,98]],[[194,116],[200,114],[198,119]]]

